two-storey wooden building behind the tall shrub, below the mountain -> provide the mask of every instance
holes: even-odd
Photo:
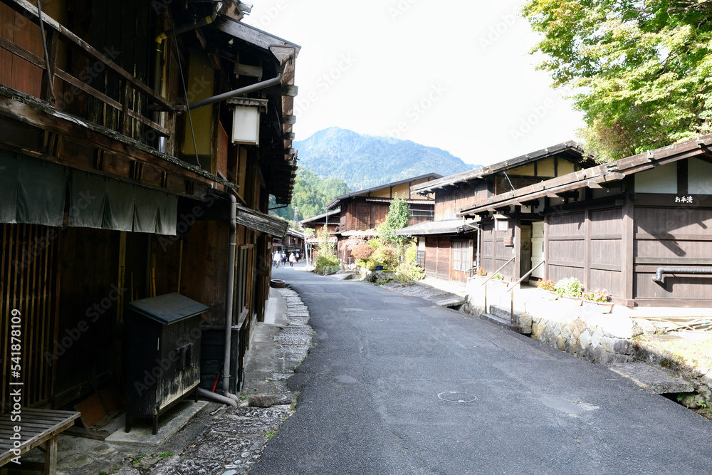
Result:
[[[436,173],[399,180],[378,187],[342,194],[326,204],[327,209],[340,207],[341,216],[335,236],[337,255],[342,264],[350,264],[351,253],[345,243],[350,236],[378,236],[377,227],[386,220],[394,197],[405,199],[410,206],[409,225],[431,221],[434,216],[434,197],[431,194],[416,194],[411,187],[442,178]]]

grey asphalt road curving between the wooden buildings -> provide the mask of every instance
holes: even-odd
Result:
[[[420,298],[279,268],[315,347],[251,475],[712,474],[712,422]]]

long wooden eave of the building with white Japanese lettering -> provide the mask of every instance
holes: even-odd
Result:
[[[675,145],[633,155],[616,162],[579,170],[528,187],[483,199],[473,207],[460,209],[458,216],[473,216],[483,212],[496,212],[513,204],[519,205],[542,197],[560,197],[581,188],[597,188],[616,182],[645,170],[691,157],[712,155],[712,135],[704,135]]]

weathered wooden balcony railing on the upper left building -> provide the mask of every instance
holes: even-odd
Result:
[[[28,21],[33,22],[33,24],[36,24],[37,26],[40,25],[37,7],[30,4],[28,1],[4,0],[3,3],[9,5],[15,11],[18,11]],[[117,121],[108,120],[105,116],[105,123],[100,125],[116,130],[122,135],[130,135],[131,121],[135,120],[136,122],[140,122],[140,124],[148,127],[148,129],[153,130],[153,134],[156,136],[169,137],[171,135],[170,130],[167,127],[160,125],[155,122],[155,120],[148,117],[149,115],[164,112],[169,114],[167,122],[173,123],[174,114],[176,113],[177,108],[170,103],[169,100],[155,93],[152,88],[147,86],[145,83],[142,83],[131,73],[125,71],[125,69],[117,66],[117,64],[112,61],[115,59],[115,56],[109,57],[114,55],[109,48],[105,51],[107,54],[103,54],[93,46],[90,46],[89,43],[79,38],[75,33],[66,28],[66,26],[59,24],[57,21],[44,14],[42,15],[42,23],[46,28],[48,58],[41,58],[35,53],[28,51],[26,48],[23,48],[22,46],[19,46],[18,44],[0,36],[0,48],[4,48],[6,51],[13,53],[15,56],[18,56],[28,63],[33,64],[37,68],[42,69],[43,80],[41,99],[47,100],[58,109],[64,109],[65,106],[68,105],[66,97],[54,100],[54,91],[52,90],[51,85],[54,83],[55,78],[59,78],[69,86],[66,90],[68,90],[70,98],[75,98],[75,96],[85,93],[97,100],[100,100],[109,108],[117,111]],[[88,76],[88,74],[86,74],[87,71],[80,74],[80,76],[85,77],[83,80],[60,68],[57,64],[57,51],[60,41],[65,43],[71,51],[78,51],[82,54],[82,56],[88,58],[90,63],[93,62],[95,65],[102,65],[100,68],[101,72],[108,73],[112,75],[115,80],[117,80],[119,90],[118,97],[112,98],[90,85],[91,80],[88,80],[88,82],[86,80],[86,77]],[[49,73],[47,72],[48,65],[50,69]],[[66,95],[67,94],[64,94],[64,96]],[[149,136],[149,139],[151,138],[150,134],[147,133],[145,135]]]

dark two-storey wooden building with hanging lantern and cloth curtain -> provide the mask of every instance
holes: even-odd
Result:
[[[1,410],[11,310],[22,404],[71,407],[149,384],[122,382],[124,308],[166,293],[209,306],[201,387],[239,391],[286,232],[268,197],[293,188],[299,47],[241,24],[240,1],[41,9],[0,0]]]

